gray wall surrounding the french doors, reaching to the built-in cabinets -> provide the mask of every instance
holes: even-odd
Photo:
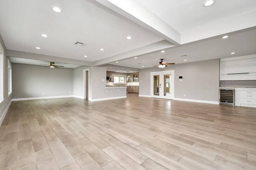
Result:
[[[140,95],[150,96],[150,72],[161,70],[158,67],[140,70]],[[174,70],[174,98],[218,102],[219,59],[170,65],[165,70]]]

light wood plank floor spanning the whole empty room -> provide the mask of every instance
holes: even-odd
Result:
[[[127,95],[12,102],[0,169],[256,169],[256,108]]]

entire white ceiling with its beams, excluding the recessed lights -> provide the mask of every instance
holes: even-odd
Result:
[[[148,68],[161,58],[184,63],[181,55],[193,62],[256,54],[256,1],[216,0],[203,7],[204,1],[0,0],[0,35],[10,57],[26,58],[22,51],[91,66]],[[53,12],[54,6],[62,12]]]

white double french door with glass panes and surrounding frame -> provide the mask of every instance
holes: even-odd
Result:
[[[152,98],[174,98],[174,70],[151,72],[150,91]]]

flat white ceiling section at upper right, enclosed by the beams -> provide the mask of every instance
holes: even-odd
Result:
[[[216,0],[202,7],[206,0],[138,0],[180,33],[255,12],[255,0]]]

